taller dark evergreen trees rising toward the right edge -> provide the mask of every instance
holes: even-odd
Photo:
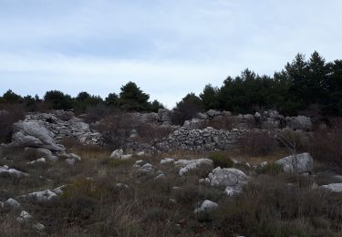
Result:
[[[297,54],[273,77],[259,76],[246,68],[237,77],[227,77],[220,88],[208,84],[199,96],[188,94],[178,109],[228,110],[254,113],[274,108],[285,115],[320,113],[342,115],[342,60],[326,62],[316,51],[306,60]]]

